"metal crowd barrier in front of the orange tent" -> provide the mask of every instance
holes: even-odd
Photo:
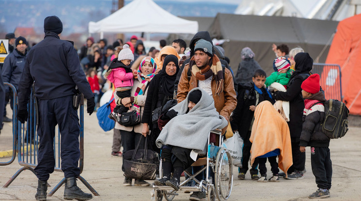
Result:
[[[320,84],[326,99],[343,101],[341,67],[337,64],[313,63],[312,73],[320,75]]]

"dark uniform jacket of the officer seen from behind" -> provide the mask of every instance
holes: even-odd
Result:
[[[40,100],[73,95],[76,85],[86,99],[94,97],[80,66],[77,51],[70,42],[60,40],[56,33],[46,33],[44,40],[26,56],[19,83],[19,109],[27,108],[34,81],[36,97]]]

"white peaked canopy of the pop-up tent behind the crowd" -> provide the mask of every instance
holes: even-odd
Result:
[[[89,33],[197,33],[198,22],[176,17],[153,0],[133,0],[98,22],[89,22]]]

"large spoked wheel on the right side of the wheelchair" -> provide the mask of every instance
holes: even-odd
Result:
[[[215,194],[219,201],[227,200],[233,184],[232,161],[227,149],[222,148],[218,151],[215,169]]]

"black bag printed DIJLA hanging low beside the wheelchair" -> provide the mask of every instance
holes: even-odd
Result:
[[[155,180],[160,158],[157,152],[148,150],[147,138],[144,150],[138,150],[141,141],[139,140],[135,150],[126,151],[123,154],[124,176],[132,179]]]

